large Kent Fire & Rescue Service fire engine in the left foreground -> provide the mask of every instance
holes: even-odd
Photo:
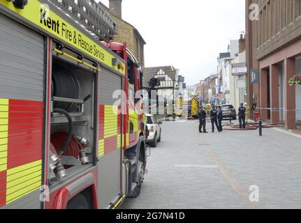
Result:
[[[142,68],[116,33],[92,0],[0,0],[0,208],[118,208],[140,194]]]

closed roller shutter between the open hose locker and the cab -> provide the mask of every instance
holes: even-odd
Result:
[[[122,119],[117,114],[113,98],[122,89],[122,77],[101,68],[99,89],[99,135],[98,135],[98,203],[109,208],[121,192]]]

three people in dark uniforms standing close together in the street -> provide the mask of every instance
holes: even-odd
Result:
[[[208,133],[206,130],[206,118],[207,113],[203,109],[203,106],[201,106],[200,111],[198,112],[198,119],[200,120],[198,130],[200,133]],[[223,131],[223,125],[221,124],[223,121],[223,111],[221,110],[221,106],[217,107],[217,109],[215,106],[212,107],[210,111],[210,120],[212,124],[212,132],[215,130],[214,125],[219,132]]]

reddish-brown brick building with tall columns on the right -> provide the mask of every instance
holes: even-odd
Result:
[[[258,20],[249,16],[252,3]],[[301,85],[288,80],[301,72],[301,0],[246,0],[246,29],[249,102],[257,103],[264,121],[296,128]]]

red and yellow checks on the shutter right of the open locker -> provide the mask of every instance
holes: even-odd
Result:
[[[98,157],[122,148],[122,114],[120,107],[100,105]]]

